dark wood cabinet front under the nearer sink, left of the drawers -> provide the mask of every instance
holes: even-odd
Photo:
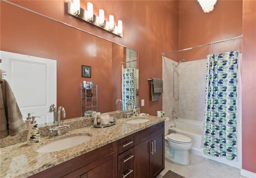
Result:
[[[30,178],[117,178],[117,141],[58,164]]]

